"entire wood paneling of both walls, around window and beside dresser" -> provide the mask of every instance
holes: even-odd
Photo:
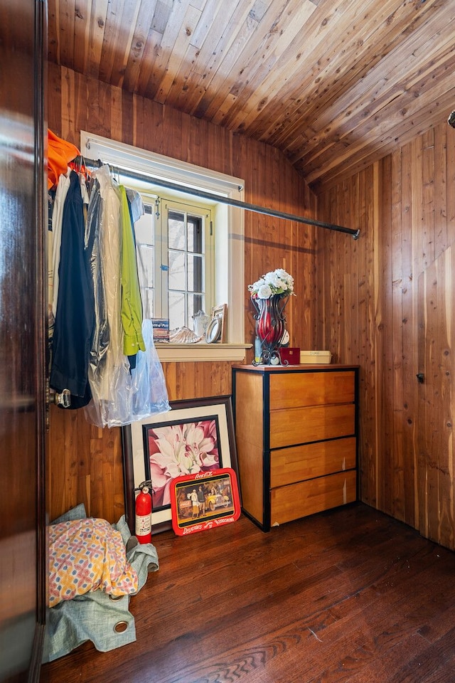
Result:
[[[311,192],[267,145],[55,65],[48,92],[50,128],[75,144],[86,129],[242,176],[246,201],[316,216]],[[360,228],[358,240],[245,213],[246,341],[246,285],[287,268],[291,344],[360,365],[361,498],[452,549],[454,176],[455,131],[444,122],[319,197],[317,218]],[[165,364],[164,374],[171,400],[231,391],[229,363]],[[53,408],[51,516],[82,501],[116,521],[121,451],[119,429]]]

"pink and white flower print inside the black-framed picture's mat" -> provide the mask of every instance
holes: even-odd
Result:
[[[200,420],[148,430],[153,509],[171,504],[175,477],[220,468],[216,420]]]

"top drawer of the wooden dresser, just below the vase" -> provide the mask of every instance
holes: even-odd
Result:
[[[353,403],[353,371],[296,372],[270,376],[270,410]]]

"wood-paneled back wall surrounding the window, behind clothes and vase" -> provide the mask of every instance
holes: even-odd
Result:
[[[80,130],[245,179],[245,201],[316,217],[316,200],[276,149],[183,115],[94,78],[49,64],[49,127],[80,144]],[[246,286],[274,268],[296,280],[287,306],[291,344],[314,349],[316,233],[312,227],[245,212],[245,341],[253,340]],[[249,354],[249,359],[252,352]],[[169,398],[231,393],[230,363],[165,364]],[[50,415],[50,515],[84,502],[87,512],[117,521],[123,509],[120,430],[99,430],[82,411]]]

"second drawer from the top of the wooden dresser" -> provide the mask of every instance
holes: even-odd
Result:
[[[355,434],[355,406],[312,406],[270,413],[270,448]]]

